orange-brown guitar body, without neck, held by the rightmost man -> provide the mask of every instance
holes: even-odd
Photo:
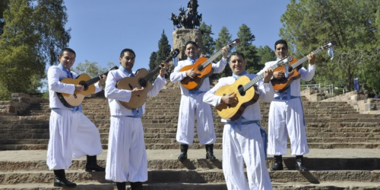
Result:
[[[296,58],[293,58],[293,61],[289,63],[289,68],[292,68],[291,65],[296,63],[298,60]],[[296,68],[292,69],[291,71],[288,71],[288,78],[281,78],[281,79],[272,79],[272,86],[273,89],[276,92],[284,92],[288,87],[290,86],[291,82],[293,82],[296,79],[299,79],[301,75],[299,75],[298,70],[302,68],[302,65],[298,65]],[[276,69],[273,70],[275,71],[282,71],[283,73],[286,72],[285,66],[280,66],[277,67]]]

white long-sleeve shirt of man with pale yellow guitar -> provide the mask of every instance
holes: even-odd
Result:
[[[249,77],[250,80],[254,79],[257,76],[257,74],[248,74],[247,77]],[[203,101],[212,105],[216,106],[221,103],[221,96],[216,96],[215,92],[218,90],[220,87],[225,86],[225,85],[232,85],[236,81],[235,78],[233,77],[225,77],[219,79],[218,84],[216,84],[212,89],[210,89],[206,94],[203,96]],[[245,84],[243,84],[245,85]],[[253,88],[253,87],[251,87]],[[271,83],[264,83],[263,80],[261,79],[260,81],[257,82],[257,90],[259,92],[259,98],[266,102],[271,102],[273,99],[273,94],[274,90],[272,87]],[[261,112],[260,112],[260,105],[257,102],[254,104],[251,104],[247,106],[244,109],[244,112],[242,116],[246,120],[250,121],[255,121],[255,120],[261,120]],[[222,122],[229,122],[228,120],[222,119]]]

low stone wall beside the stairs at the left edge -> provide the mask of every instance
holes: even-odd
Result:
[[[24,93],[12,93],[12,100],[0,101],[0,115],[19,115],[30,105],[42,102],[49,102],[49,100]]]

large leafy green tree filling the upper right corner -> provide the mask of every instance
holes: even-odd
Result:
[[[326,53],[317,56],[317,83],[343,83],[352,90],[354,77],[359,77],[368,89],[379,89],[380,79],[369,78],[380,71],[373,63],[378,58],[379,4],[376,0],[291,0],[281,17],[280,35],[298,58],[330,40],[337,42],[332,61]]]

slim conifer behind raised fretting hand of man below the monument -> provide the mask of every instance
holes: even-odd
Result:
[[[232,41],[232,34],[229,32],[227,27],[223,26],[220,29],[220,32],[218,33],[218,37],[215,41],[215,51],[216,52],[220,51],[225,45],[227,45],[231,41]],[[215,61],[219,61],[220,59],[221,59],[221,55],[218,58],[216,58]],[[226,77],[226,76],[231,76],[231,75],[232,75],[232,70],[228,65],[226,66],[223,72],[219,73],[219,77]]]

